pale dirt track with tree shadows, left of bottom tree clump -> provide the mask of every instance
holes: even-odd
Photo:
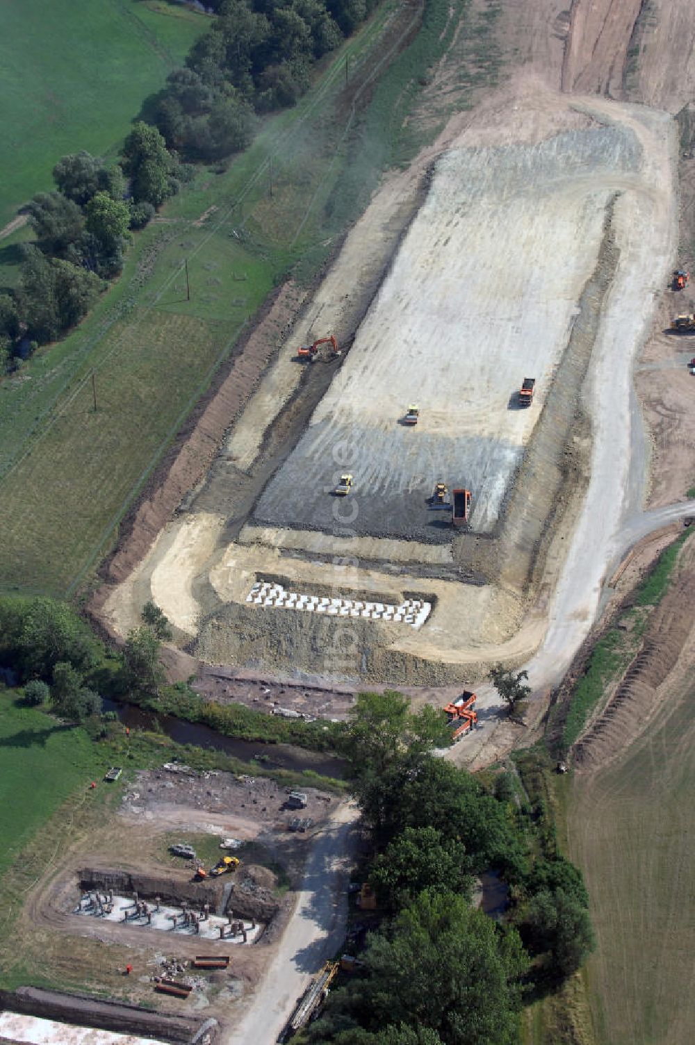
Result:
[[[350,833],[357,809],[343,805],[317,837],[297,907],[250,1007],[222,1036],[224,1045],[271,1045],[312,976],[345,936]]]

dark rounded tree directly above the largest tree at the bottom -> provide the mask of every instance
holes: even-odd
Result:
[[[459,841],[443,839],[435,828],[406,828],[376,857],[369,881],[379,906],[396,911],[430,886],[445,885],[470,899],[470,860]]]

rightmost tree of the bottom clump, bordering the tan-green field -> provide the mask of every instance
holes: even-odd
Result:
[[[526,923],[532,949],[548,952],[552,972],[561,977],[575,973],[596,946],[586,907],[563,889],[537,892]]]

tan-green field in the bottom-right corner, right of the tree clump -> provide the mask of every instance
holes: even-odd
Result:
[[[587,981],[601,1045],[692,1041],[694,698],[684,680],[623,759],[574,782],[570,855],[599,943]]]

